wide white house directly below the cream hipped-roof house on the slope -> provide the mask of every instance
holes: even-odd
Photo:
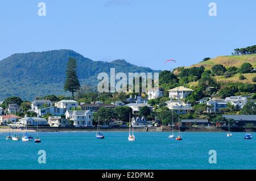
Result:
[[[168,100],[166,104],[175,113],[185,114],[192,110],[191,104],[184,103],[181,100]]]

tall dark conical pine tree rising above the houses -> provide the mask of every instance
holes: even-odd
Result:
[[[77,68],[76,60],[74,58],[69,58],[67,63],[64,91],[72,92],[73,99],[74,99],[74,92],[80,89],[80,83],[76,74],[76,68]]]

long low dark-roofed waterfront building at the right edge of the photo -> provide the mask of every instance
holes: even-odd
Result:
[[[256,126],[256,115],[222,115],[226,119],[233,119],[238,127],[244,127],[247,123]]]

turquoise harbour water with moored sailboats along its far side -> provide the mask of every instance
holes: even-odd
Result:
[[[56,132],[40,133],[39,144],[6,141],[7,134],[0,133],[0,169],[256,169],[256,138],[244,140],[245,133],[184,132],[176,141],[167,132],[136,132],[129,142],[127,132],[104,132],[104,140],[95,132]],[[216,164],[209,150],[217,151]]]

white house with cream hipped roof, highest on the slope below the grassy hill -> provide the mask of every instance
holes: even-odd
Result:
[[[169,91],[169,98],[171,99],[185,99],[189,95],[191,95],[193,90],[180,86],[180,87],[175,87],[174,89],[171,89],[168,91]]]

